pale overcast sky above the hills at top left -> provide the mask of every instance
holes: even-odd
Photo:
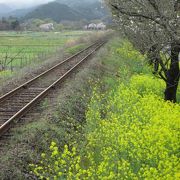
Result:
[[[18,8],[21,8],[25,6],[28,7],[37,4],[42,4],[50,1],[54,0],[0,0],[0,3],[5,3],[11,7],[16,6]]]

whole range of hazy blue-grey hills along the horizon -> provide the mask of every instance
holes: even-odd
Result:
[[[1,12],[4,12],[3,15]],[[55,0],[47,4],[17,10],[11,10],[5,4],[0,4],[0,17],[2,16],[13,16],[21,20],[50,18],[59,23],[60,21],[105,20],[108,19],[110,13],[99,0]]]

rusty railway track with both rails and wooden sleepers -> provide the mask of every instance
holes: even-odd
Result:
[[[96,42],[40,75],[0,97],[0,137],[15,122],[61,84],[79,65],[92,56],[105,41]]]

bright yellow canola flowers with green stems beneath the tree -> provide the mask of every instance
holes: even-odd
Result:
[[[179,179],[180,105],[163,100],[164,82],[129,42],[115,40],[109,49],[104,63],[116,75],[92,85],[83,142],[62,148],[52,140],[41,161],[30,164],[32,173],[40,179]]]

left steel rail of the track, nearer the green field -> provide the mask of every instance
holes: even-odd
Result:
[[[31,83],[33,83],[35,80],[41,78],[42,76],[44,76],[45,74],[51,72],[52,70],[58,68],[59,66],[63,65],[64,63],[66,63],[67,61],[71,60],[72,58],[78,56],[79,54],[81,54],[82,52],[88,50],[89,48],[91,48],[92,46],[96,45],[97,42],[93,43],[92,45],[88,46],[87,48],[79,51],[78,53],[68,57],[67,59],[63,60],[62,62],[56,64],[55,66],[51,67],[50,69],[44,71],[43,73],[39,74],[38,76],[34,77],[33,79],[25,82],[24,84],[18,86],[17,88],[13,89],[12,91],[4,94],[3,96],[0,97],[0,104],[5,101],[7,98],[13,96],[15,93],[17,93],[19,90],[23,89],[23,88],[26,88],[28,85],[30,85]]]

